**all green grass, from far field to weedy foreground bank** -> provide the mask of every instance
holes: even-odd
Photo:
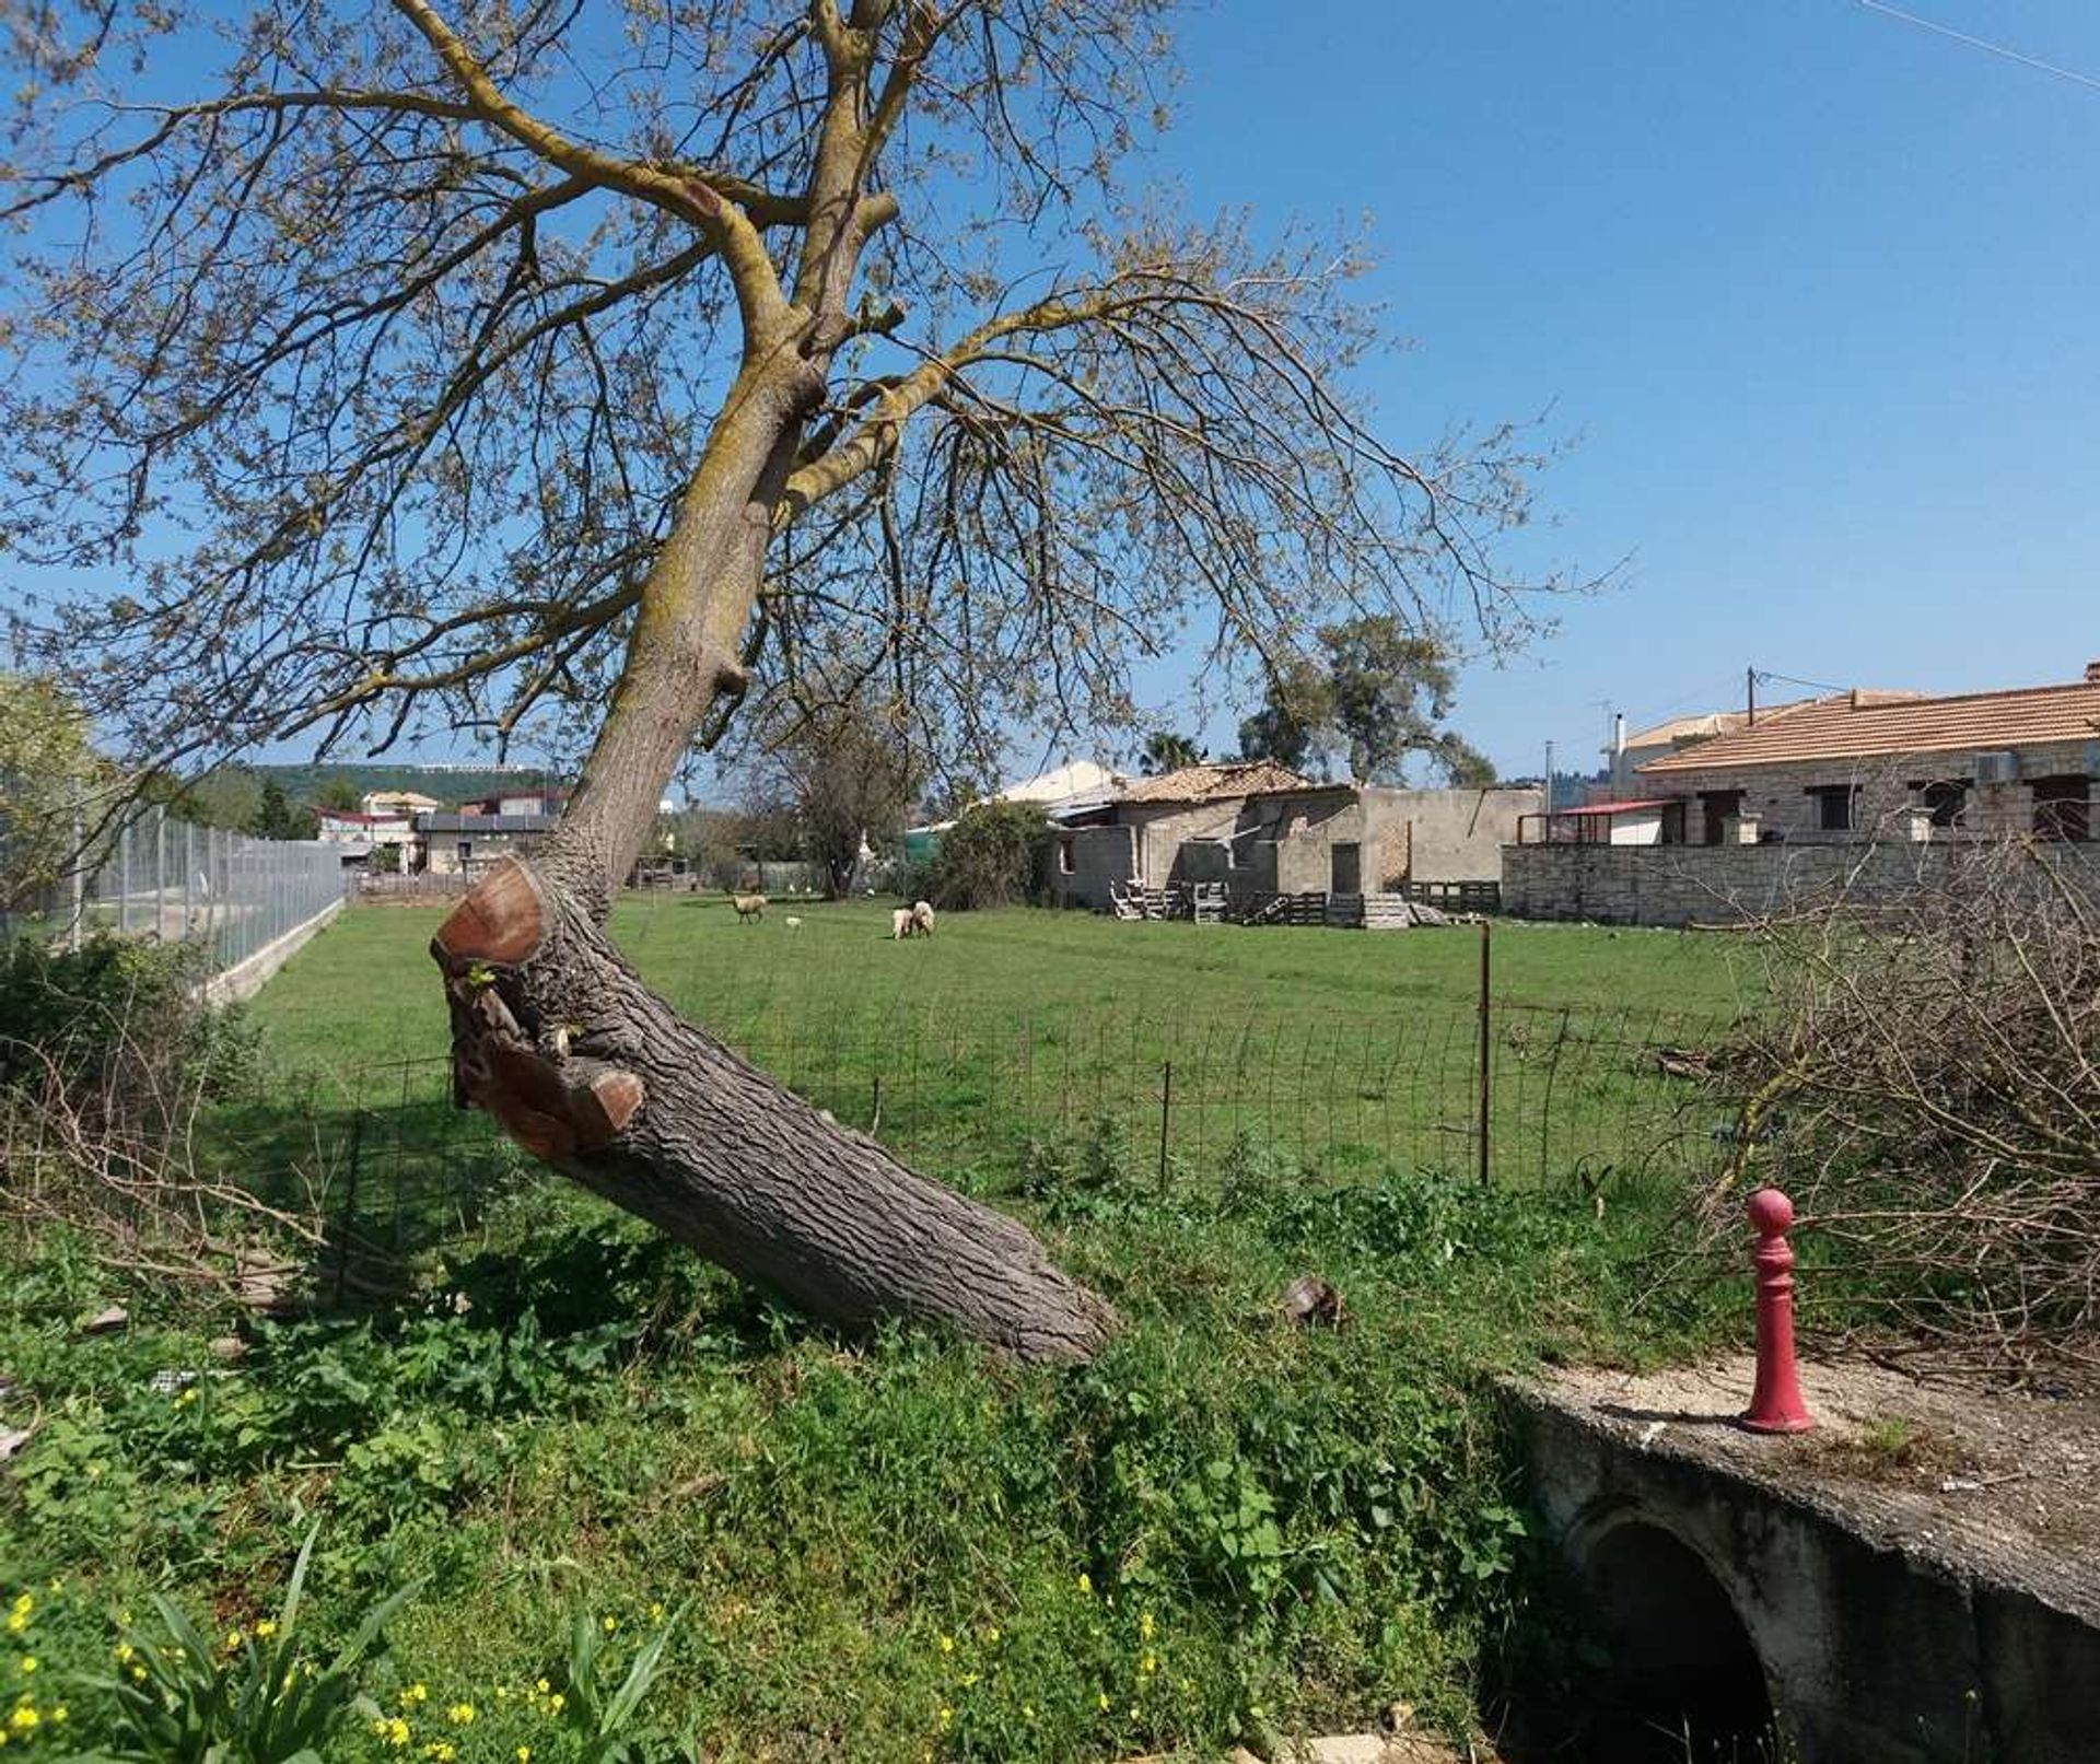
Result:
[[[149,1642],[151,1592],[214,1638],[252,1634],[319,1520],[302,1617],[317,1653],[416,1588],[391,1659],[365,1672],[378,1720],[410,1739],[359,1722],[330,1764],[607,1756],[575,1730],[605,1693],[578,1663],[575,1617],[605,1638],[613,1682],[640,1638],[670,1634],[634,1716],[647,1764],[1216,1756],[1396,1701],[1460,1732],[1514,1670],[1510,1638],[1541,1596],[1489,1378],[1541,1357],[1646,1361],[1741,1321],[1726,1283],[1655,1281],[1644,1258],[1682,1191],[1636,1161],[1581,1189],[1483,1191],[1357,1140],[1306,1157],[1270,1132],[1287,1121],[1270,1058],[1231,1069],[1262,1107],[1237,1134],[1212,1121],[1201,1155],[1176,1138],[1161,1186],[1153,1140],[1126,1121],[1079,1098],[1067,1126],[1035,1102],[1096,1082],[1092,1052],[1075,1050],[1071,1079],[1060,1060],[1098,1023],[1126,1060],[1273,1018],[1283,1065],[1338,1023],[1357,1037],[1466,1025],[1466,930],[989,914],[892,945],[876,907],[808,907],[796,930],[699,901],[622,907],[622,943],[687,1010],[760,1054],[794,1025],[811,1094],[874,1073],[903,1088],[876,1048],[920,1025],[928,1075],[886,1105],[884,1132],[916,1107],[901,1147],[1025,1216],[1126,1319],[1094,1365],[1021,1371],[928,1331],[815,1329],[525,1174],[437,1096],[435,918],[363,909],[315,941],[254,1010],[265,1094],[225,1117],[235,1151],[262,1142],[246,1132],[319,1155],[317,1124],[370,1088],[357,1218],[388,1224],[393,1172],[405,1300],[260,1323],[126,1289],[63,1235],[8,1245],[0,1369],[44,1422],[0,1470],[0,1592],[36,1596],[4,1646],[34,1648],[42,1672],[105,1672],[130,1644],[126,1611]],[[1495,960],[1497,998],[1556,1021],[1735,1008],[1718,941],[1497,926]],[[1533,1021],[1522,1006],[1497,1035]],[[934,1056],[949,1046],[962,1056]],[[1497,1042],[1504,1056],[1533,1058]],[[391,1079],[405,1109],[378,1094],[386,1060],[410,1063]],[[1023,1109],[1012,1130],[987,1126]],[[426,1126],[470,1136],[449,1140],[456,1203],[401,1203],[403,1172],[439,1144],[418,1144]],[[1279,1319],[1308,1270],[1342,1289],[1346,1327]],[[116,1294],[132,1327],[84,1336]],[[233,1361],[208,1346],[229,1331],[246,1342]],[[200,1376],[155,1388],[170,1369]],[[1548,1642],[1520,1670],[1569,1659]],[[107,1705],[80,1684],[86,1741]]]

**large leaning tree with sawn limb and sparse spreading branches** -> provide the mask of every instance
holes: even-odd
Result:
[[[693,743],[815,664],[987,752],[1128,718],[1197,617],[1258,666],[1340,607],[1522,628],[1531,460],[1371,433],[1357,256],[1107,195],[1166,10],[6,8],[21,643],[164,764],[573,718],[550,848],[437,941],[462,1098],[819,1315],[1044,1357],[1107,1308],[601,926]]]

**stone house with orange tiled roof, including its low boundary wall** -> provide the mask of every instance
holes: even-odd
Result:
[[[1898,892],[1934,850],[1984,840],[2083,846],[2100,781],[2100,662],[2056,687],[1810,699],[1651,758],[1634,781],[1640,802],[1619,806],[1657,808],[1659,838],[1621,848],[1571,836],[1567,815],[1527,825],[1504,853],[1508,911],[1716,922],[1844,878]]]

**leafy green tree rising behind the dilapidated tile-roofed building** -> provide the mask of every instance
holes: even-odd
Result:
[[[1247,758],[1331,775],[1338,760],[1369,783],[1399,783],[1424,756],[1447,783],[1495,781],[1493,762],[1455,729],[1457,680],[1434,636],[1390,613],[1365,613],[1319,632],[1321,659],[1296,657],[1239,724]]]

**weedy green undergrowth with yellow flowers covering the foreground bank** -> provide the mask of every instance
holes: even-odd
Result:
[[[1634,1302],[1670,1199],[1130,1163],[1096,1134],[964,1172],[1124,1310],[1073,1371],[830,1336],[559,1182],[470,1258],[428,1245],[407,1302],[248,1323],[237,1357],[63,1235],[8,1245],[6,1413],[38,1418],[0,1506],[10,1751],[113,1743],[155,1592],[242,1667],[315,1525],[313,1663],[412,1588],[326,1758],[622,1756],[578,1707],[666,1632],[636,1758],[1111,1758],[1392,1701],[1464,1726],[1527,1550],[1489,1380],[1707,1331],[1699,1285]],[[1308,1270],[1340,1329],[1281,1319]],[[118,1296],[130,1327],[84,1334]]]

